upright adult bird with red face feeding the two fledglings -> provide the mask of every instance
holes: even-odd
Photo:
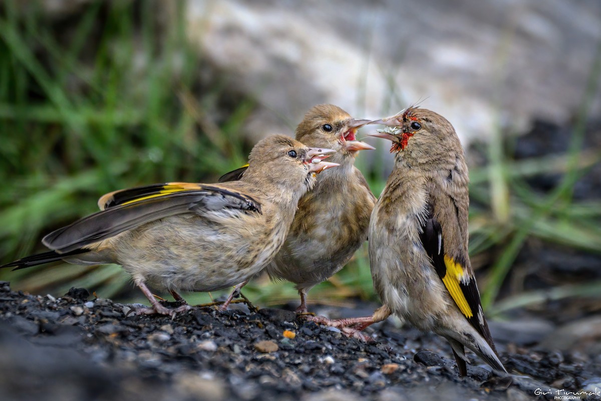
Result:
[[[371,121],[392,142],[394,168],[371,214],[369,256],[382,307],[369,317],[325,322],[347,335],[395,314],[451,345],[459,375],[465,347],[500,374],[499,360],[468,255],[468,167],[451,123],[410,106]]]

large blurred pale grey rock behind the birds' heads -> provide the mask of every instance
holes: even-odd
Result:
[[[371,118],[427,97],[422,105],[463,140],[490,135],[499,120],[566,121],[601,38],[597,1],[186,4],[188,37],[261,105],[245,124],[251,142],[287,132],[317,103]]]

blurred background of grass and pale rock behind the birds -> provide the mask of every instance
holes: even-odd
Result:
[[[317,103],[376,118],[419,102],[468,152],[470,252],[487,313],[561,323],[601,310],[596,0],[9,0],[0,54],[2,263],[44,251],[44,234],[94,212],[106,192],[215,182],[258,139],[293,135]],[[368,142],[378,150],[358,167],[377,196],[391,158]],[[144,301],[114,265],[0,278],[32,293],[75,286]],[[244,292],[260,306],[297,302],[290,283],[267,278]],[[309,296],[349,299],[377,301],[367,246]]]

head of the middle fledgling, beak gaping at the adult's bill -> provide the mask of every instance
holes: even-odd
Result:
[[[359,150],[374,149],[355,137],[357,130],[369,122],[351,117],[338,106],[317,105],[296,128],[296,139],[309,146],[332,148],[339,155],[356,156]]]

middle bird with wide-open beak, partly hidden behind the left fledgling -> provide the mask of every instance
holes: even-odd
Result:
[[[308,313],[307,292],[342,269],[367,239],[376,197],[354,163],[359,150],[374,149],[356,140],[356,131],[368,122],[323,104],[311,108],[296,128],[298,141],[334,149],[328,160],[340,164],[319,174],[313,190],[301,198],[284,245],[265,269],[272,280],[296,284],[299,314]],[[220,181],[238,179],[244,170]]]

